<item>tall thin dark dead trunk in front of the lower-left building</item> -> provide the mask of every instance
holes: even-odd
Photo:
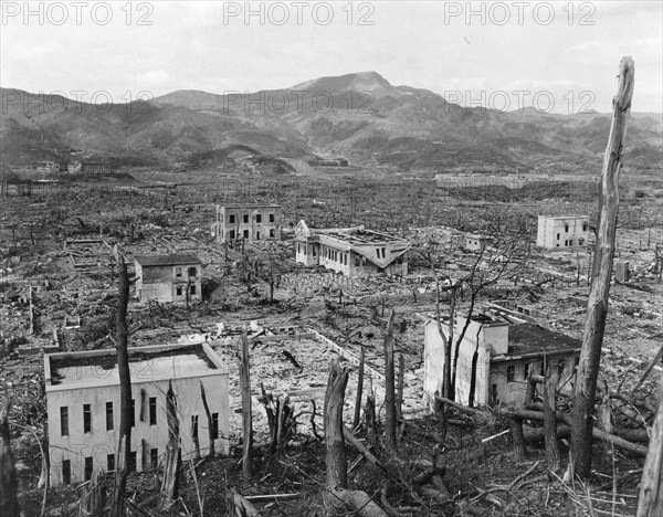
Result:
[[[129,305],[129,275],[127,264],[119,263],[119,297],[115,319],[117,370],[119,373],[119,443],[115,468],[115,484],[110,516],[122,517],[127,486],[127,468],[131,450],[131,377],[129,372],[129,352],[127,350],[129,331],[127,328],[127,307]]]

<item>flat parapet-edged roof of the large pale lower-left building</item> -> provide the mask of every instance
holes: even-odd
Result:
[[[209,351],[208,351],[209,350]],[[46,387],[117,386],[115,349],[49,354]],[[221,359],[202,344],[129,348],[131,382],[198,377],[223,371]]]

